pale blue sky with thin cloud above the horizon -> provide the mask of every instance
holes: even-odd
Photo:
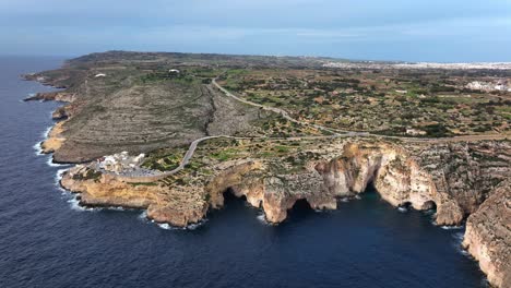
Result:
[[[0,55],[511,62],[511,0],[0,0]]]

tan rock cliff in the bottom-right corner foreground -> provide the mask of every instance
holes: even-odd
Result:
[[[496,188],[468,217],[463,245],[491,285],[511,287],[511,180]]]

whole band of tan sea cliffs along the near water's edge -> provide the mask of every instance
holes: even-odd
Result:
[[[511,148],[509,143],[504,145],[501,153]],[[472,207],[475,213],[471,214],[464,212],[467,209],[463,207],[464,195],[456,197],[439,189],[436,177],[420,168],[414,157],[396,144],[336,141],[324,148],[320,158],[309,159],[305,170],[290,175],[275,173],[271,163],[264,159],[226,161],[210,167],[214,172],[204,184],[190,181],[173,188],[136,178],[91,176],[91,168],[80,165],[63,175],[61,184],[80,193],[82,205],[142,208],[154,221],[178,227],[199,223],[210,209],[223,207],[226,191],[245,197],[250,205],[264,212],[269,223],[278,224],[286,219],[287,211],[298,200],[306,200],[313,209],[335,209],[338,199],[356,196],[368,184],[373,184],[381,197],[395,207],[436,207],[437,225],[462,225],[470,215],[463,245],[479,261],[492,285],[507,287],[510,277],[507,262],[510,256],[509,181],[491,189],[490,196],[480,207]],[[508,173],[509,170],[504,175]]]

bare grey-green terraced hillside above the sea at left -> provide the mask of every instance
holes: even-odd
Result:
[[[86,67],[91,64],[92,67]],[[105,69],[105,76],[96,77]],[[120,151],[148,153],[177,147],[210,134],[258,134],[254,123],[270,118],[258,108],[222,97],[211,85],[191,77],[151,79],[151,73],[111,63],[68,63],[26,75],[62,91],[25,100],[68,103],[54,119],[66,119],[59,141],[43,149],[56,163],[85,163]]]

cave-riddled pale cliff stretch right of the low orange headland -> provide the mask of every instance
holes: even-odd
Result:
[[[223,193],[230,189],[234,195],[246,196],[252,206],[261,207],[269,221],[281,223],[298,200],[306,200],[313,209],[335,209],[338,197],[363,193],[372,184],[393,206],[407,203],[415,209],[437,207],[439,225],[455,225],[463,219],[457,203],[437,191],[432,177],[405,151],[390,144],[346,144],[341,156],[317,160],[296,175],[277,176],[265,169],[258,160],[229,166],[206,185],[210,205],[223,206]]]

